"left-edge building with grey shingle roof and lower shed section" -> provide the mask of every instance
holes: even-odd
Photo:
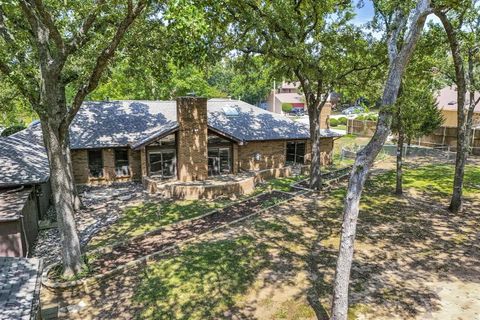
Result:
[[[39,124],[0,139],[0,256],[26,256],[49,206],[48,159]]]

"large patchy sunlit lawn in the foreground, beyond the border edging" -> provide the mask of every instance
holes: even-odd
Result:
[[[463,215],[444,210],[452,166],[405,171],[404,197],[391,172],[366,184],[349,319],[475,319],[480,167],[466,168]],[[344,195],[343,184],[300,198],[106,280],[72,318],[326,319]]]

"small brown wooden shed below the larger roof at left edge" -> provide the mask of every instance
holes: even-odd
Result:
[[[0,257],[25,257],[38,234],[34,189],[0,193]]]

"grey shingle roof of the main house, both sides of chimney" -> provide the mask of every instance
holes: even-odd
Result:
[[[227,116],[223,110],[227,106],[235,107],[238,115]],[[210,99],[207,110],[209,128],[234,141],[310,137],[308,125],[243,101]],[[138,148],[177,129],[175,101],[86,102],[70,127],[70,147]]]

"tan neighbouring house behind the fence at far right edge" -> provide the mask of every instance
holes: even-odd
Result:
[[[475,94],[475,100],[480,97],[480,92]],[[468,105],[469,94],[466,96],[466,103]],[[445,87],[439,91],[437,96],[437,107],[442,110],[445,121],[444,127],[457,127],[457,90],[455,87]],[[473,114],[473,127],[480,126],[480,103],[475,107]]]

